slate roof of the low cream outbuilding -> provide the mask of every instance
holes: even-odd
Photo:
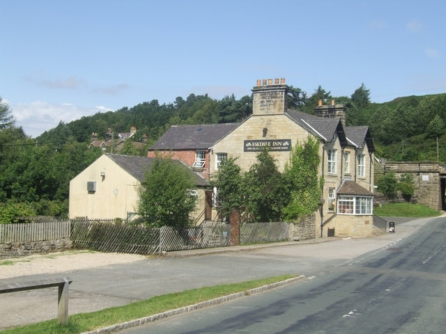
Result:
[[[130,175],[132,175],[134,178],[136,178],[139,182],[144,181],[144,176],[145,176],[146,172],[151,169],[153,161],[155,160],[154,158],[123,155],[123,154],[105,153],[105,155],[107,155],[107,157],[112,159],[112,161],[114,161],[115,164],[117,164],[118,166],[123,168],[123,170],[126,170]],[[176,160],[176,161],[178,161],[178,164],[183,164],[179,160]],[[186,166],[185,164],[183,164],[183,165]],[[189,168],[189,167],[187,167],[187,168]],[[208,180],[206,180],[204,177],[202,177],[198,173],[195,173],[193,170],[190,170],[190,173],[192,173],[192,175],[194,175],[195,185],[209,186]]]

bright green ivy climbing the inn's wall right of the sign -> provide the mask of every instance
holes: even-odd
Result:
[[[290,163],[285,166],[285,180],[291,199],[284,207],[286,220],[295,220],[312,214],[321,202],[323,180],[318,177],[321,158],[318,154],[318,141],[309,136],[305,143],[293,148]]]

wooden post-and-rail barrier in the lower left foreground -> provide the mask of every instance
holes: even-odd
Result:
[[[48,280],[36,280],[33,282],[0,283],[0,294],[19,292],[33,289],[45,289],[46,287],[59,287],[57,298],[57,319],[59,324],[68,324],[68,285],[70,278],[51,278]]]

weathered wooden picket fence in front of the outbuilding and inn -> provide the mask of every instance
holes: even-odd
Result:
[[[288,223],[245,223],[240,244],[287,240]],[[0,244],[70,238],[73,248],[148,255],[174,250],[230,246],[230,225],[221,221],[176,230],[127,225],[115,220],[62,220],[0,225]]]

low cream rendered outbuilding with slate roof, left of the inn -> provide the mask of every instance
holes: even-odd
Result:
[[[122,154],[102,154],[70,181],[69,218],[132,218],[137,212],[137,188],[150,170],[153,159]],[[197,189],[197,209],[191,218],[199,218],[204,208],[204,193],[209,183],[193,173]]]

